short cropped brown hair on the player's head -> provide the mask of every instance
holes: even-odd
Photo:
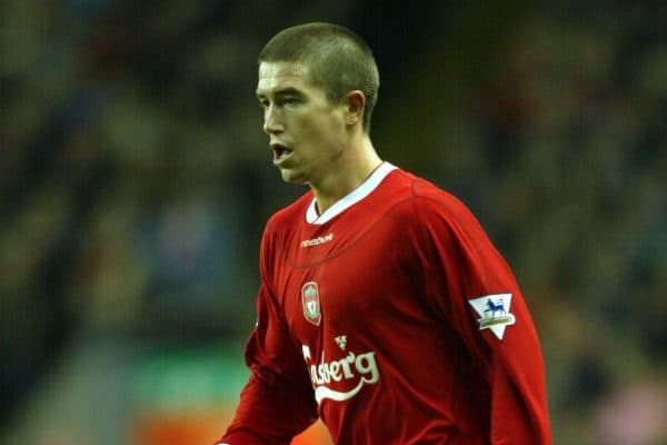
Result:
[[[350,29],[334,23],[306,23],[277,33],[259,53],[258,62],[298,62],[309,69],[311,81],[337,102],[351,90],[366,96],[362,128],[378,100],[380,76],[368,44]]]

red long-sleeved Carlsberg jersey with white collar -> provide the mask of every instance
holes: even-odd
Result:
[[[545,372],[510,268],[458,199],[392,165],[267,224],[252,369],[220,444],[548,445]]]

